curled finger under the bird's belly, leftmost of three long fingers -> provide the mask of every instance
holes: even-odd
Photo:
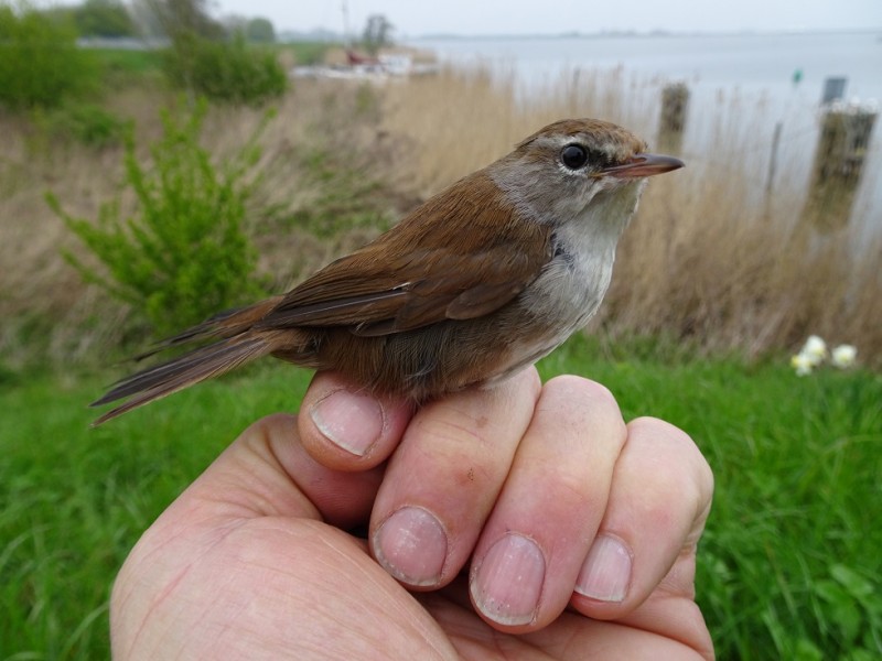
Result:
[[[411,587],[445,585],[467,562],[539,392],[535,369],[435,401],[413,418],[372,514],[377,561]]]

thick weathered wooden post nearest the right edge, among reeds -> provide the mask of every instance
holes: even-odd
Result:
[[[832,231],[848,224],[878,115],[856,104],[825,108],[806,204],[816,229]]]

